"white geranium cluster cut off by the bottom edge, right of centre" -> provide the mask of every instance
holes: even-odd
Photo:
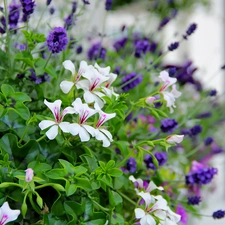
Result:
[[[137,194],[145,201],[145,208],[136,208],[135,217],[140,219],[141,225],[177,225],[181,216],[174,213],[167,204],[167,201],[161,195],[151,195],[155,189],[163,190],[163,187],[157,187],[153,181],[144,187],[144,182],[141,179],[135,179],[133,176],[129,177],[134,185]],[[142,190],[142,191],[139,191]],[[143,191],[144,190],[144,191]]]

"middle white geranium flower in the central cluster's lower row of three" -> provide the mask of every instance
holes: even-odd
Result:
[[[90,140],[90,134],[92,137],[95,136],[95,128],[86,125],[86,120],[97,113],[96,110],[88,107],[87,104],[83,104],[80,98],[77,98],[72,103],[74,110],[79,114],[79,122],[72,123],[69,125],[69,131],[72,135],[79,135],[82,142]]]

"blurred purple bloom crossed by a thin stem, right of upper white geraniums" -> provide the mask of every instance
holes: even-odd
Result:
[[[122,82],[123,83],[129,82],[122,88],[124,91],[127,92],[127,91],[135,88],[138,84],[140,84],[142,82],[142,74],[137,74],[135,72],[132,72],[130,74],[127,74],[125,77],[123,77]]]

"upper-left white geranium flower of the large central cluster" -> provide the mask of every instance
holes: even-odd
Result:
[[[71,88],[79,81],[82,74],[88,70],[89,66],[88,66],[87,62],[81,61],[77,74],[76,74],[75,66],[70,60],[64,61],[63,66],[66,70],[70,70],[71,74],[72,74],[71,81],[62,81],[60,83],[60,88],[61,88],[62,92],[67,94],[70,92]]]

